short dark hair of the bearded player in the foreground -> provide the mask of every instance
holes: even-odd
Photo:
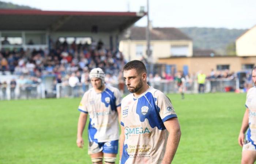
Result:
[[[139,73],[139,74],[147,73],[146,66],[140,60],[132,60],[132,61],[126,63],[126,65],[124,65],[124,67],[123,67],[123,71],[128,71],[128,70],[132,70],[132,69],[135,69],[137,71],[137,73]]]

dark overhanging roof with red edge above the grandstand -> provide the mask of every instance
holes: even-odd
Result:
[[[0,30],[120,32],[145,13],[0,9]]]

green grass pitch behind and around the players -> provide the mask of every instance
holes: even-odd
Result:
[[[173,164],[238,164],[245,94],[168,95],[181,124]],[[0,101],[0,164],[90,164],[76,147],[80,98]]]

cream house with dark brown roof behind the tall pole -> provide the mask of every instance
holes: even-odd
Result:
[[[120,40],[119,50],[125,59],[147,58],[147,40],[145,27],[131,27]],[[193,43],[187,35],[177,28],[151,28],[150,45],[152,62],[171,56],[192,56]]]

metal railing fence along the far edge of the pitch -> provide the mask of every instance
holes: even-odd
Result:
[[[117,84],[112,85],[118,88]],[[161,90],[163,93],[178,93],[178,87],[175,81],[162,80],[160,82],[150,82],[150,86],[155,89]],[[49,94],[45,86],[42,83],[19,86],[11,88],[10,85],[7,87],[0,87],[0,99],[35,99],[35,98],[47,98],[47,97],[82,97],[85,91],[91,88],[91,85],[79,84],[74,87],[65,85],[63,83],[57,83],[56,87]],[[184,93],[198,93],[197,81],[187,81],[183,84]],[[204,92],[228,92],[239,89],[238,79],[215,79],[207,80],[204,87]],[[126,87],[122,91],[123,94],[129,94]]]

